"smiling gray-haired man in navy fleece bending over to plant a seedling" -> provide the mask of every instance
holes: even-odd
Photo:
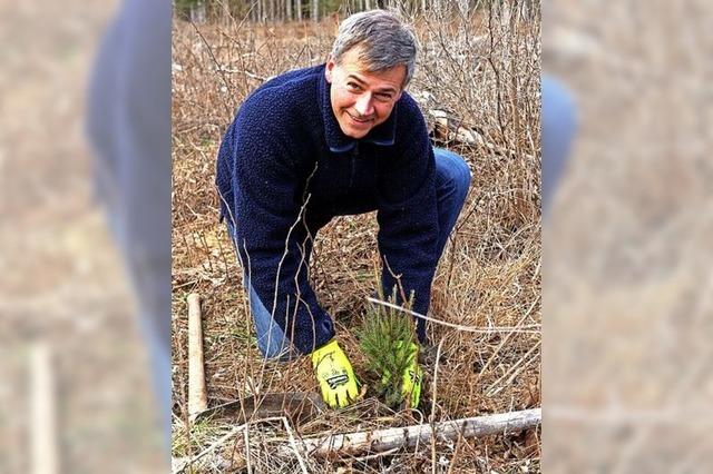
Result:
[[[257,344],[266,358],[310,354],[331,406],[345,406],[358,388],[307,282],[318,230],[334,216],[377,210],[384,294],[399,284],[426,314],[470,184],[462,158],[433,150],[403,91],[416,52],[395,14],[349,17],[325,65],[279,76],[245,100],[218,152],[221,215],[243,266]],[[417,334],[424,343],[423,319]],[[402,388],[417,406],[416,345],[411,353]]]

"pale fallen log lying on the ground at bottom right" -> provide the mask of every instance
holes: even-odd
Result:
[[[334,455],[356,455],[367,452],[382,453],[402,447],[414,447],[417,444],[429,446],[432,437],[436,441],[455,441],[459,436],[476,437],[521,431],[540,424],[541,408],[521,412],[499,413],[472,418],[453,419],[434,425],[413,425],[399,428],[378,429],[336,434],[319,438],[302,440],[302,447],[307,454],[318,457]]]

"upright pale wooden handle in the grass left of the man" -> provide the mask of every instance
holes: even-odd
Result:
[[[188,295],[188,415],[192,417],[208,407],[201,324],[201,296],[192,293]]]

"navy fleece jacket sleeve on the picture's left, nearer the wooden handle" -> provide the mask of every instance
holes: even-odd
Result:
[[[243,106],[226,134],[231,152],[235,245],[246,283],[303,354],[334,330],[309,284],[311,236],[303,224],[300,175],[279,108]]]

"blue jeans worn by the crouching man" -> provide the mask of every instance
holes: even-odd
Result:
[[[436,195],[438,198],[438,224],[440,229],[436,251],[440,259],[448,237],[466,201],[472,175],[466,161],[455,152],[442,148],[433,148],[433,154],[436,155]],[[235,231],[229,221],[227,221],[227,226],[231,236],[234,236]],[[265,305],[247,283],[247,278],[245,278],[245,282],[246,286],[250,287],[250,307],[260,350],[266,359],[285,362],[297,357],[297,350],[292,347],[290,339],[285,337],[280,325],[274,322]]]

